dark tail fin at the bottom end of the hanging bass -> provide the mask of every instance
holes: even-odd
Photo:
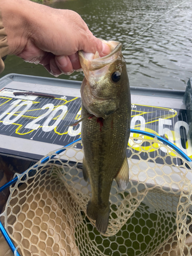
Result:
[[[109,215],[110,215],[110,205],[105,210],[103,209],[101,210],[98,207],[98,205],[96,205],[92,201],[89,201],[88,207],[87,207],[87,216],[90,219],[96,221],[95,227],[102,234],[104,234],[108,229]]]

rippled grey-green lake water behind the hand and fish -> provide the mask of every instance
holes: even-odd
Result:
[[[134,44],[127,46],[157,18],[180,4],[178,0],[73,0],[49,4],[78,12],[97,37],[117,40],[123,45],[130,85],[185,90],[192,77],[191,0],[160,18]],[[40,65],[8,56],[9,73],[53,77]],[[59,78],[82,80],[82,73]]]

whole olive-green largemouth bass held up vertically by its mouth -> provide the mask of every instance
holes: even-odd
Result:
[[[113,179],[120,189],[129,182],[126,147],[130,136],[131,96],[122,45],[106,42],[111,53],[100,58],[79,52],[84,79],[81,84],[84,151],[83,177],[90,178],[92,198],[87,215],[99,232],[108,228],[109,196]]]

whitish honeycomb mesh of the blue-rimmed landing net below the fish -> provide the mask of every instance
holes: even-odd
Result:
[[[192,255],[188,162],[156,139],[130,137],[130,183],[120,191],[113,181],[103,236],[86,216],[91,186],[79,143],[54,159],[51,152],[10,187],[1,220],[21,255]]]

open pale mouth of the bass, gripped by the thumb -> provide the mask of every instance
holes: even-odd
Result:
[[[111,65],[118,57],[119,52],[121,51],[122,44],[117,41],[105,41],[100,39],[104,44],[108,45],[111,48],[111,53],[100,57],[98,52],[95,54],[93,53],[86,53],[84,51],[79,51],[79,59],[81,63],[81,67],[86,68],[89,71],[95,71],[104,68],[107,65]],[[84,69],[83,69],[84,71]]]

